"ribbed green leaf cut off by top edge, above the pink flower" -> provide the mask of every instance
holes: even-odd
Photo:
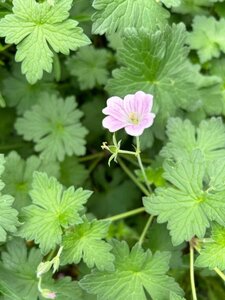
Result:
[[[165,25],[169,17],[168,11],[155,0],[94,0],[93,7],[94,34],[121,32],[127,27],[141,28],[146,24],[153,30],[157,25]]]

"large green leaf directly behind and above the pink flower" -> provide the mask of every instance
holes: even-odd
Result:
[[[123,66],[113,71],[106,86],[111,95],[125,96],[138,90],[154,95],[157,118],[152,128],[160,138],[168,117],[180,107],[189,107],[197,97],[196,70],[187,60],[185,40],[183,24],[153,34],[144,29],[127,30],[124,46],[118,51]]]

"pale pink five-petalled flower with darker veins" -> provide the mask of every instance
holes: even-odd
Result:
[[[107,115],[102,125],[110,132],[124,128],[127,134],[140,136],[145,128],[153,124],[155,114],[151,112],[152,104],[153,96],[141,91],[125,96],[124,100],[111,97],[102,110]]]

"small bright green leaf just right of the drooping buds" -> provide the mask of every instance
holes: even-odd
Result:
[[[114,269],[114,256],[109,252],[112,247],[103,241],[108,233],[110,222],[93,220],[77,225],[63,238],[63,264],[78,264],[83,258],[89,268],[97,267],[100,271]]]

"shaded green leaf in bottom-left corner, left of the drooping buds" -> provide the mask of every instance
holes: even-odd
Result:
[[[0,281],[19,299],[37,299],[36,269],[41,259],[39,249],[32,248],[28,253],[22,239],[13,239],[7,243],[7,251],[2,252]]]

